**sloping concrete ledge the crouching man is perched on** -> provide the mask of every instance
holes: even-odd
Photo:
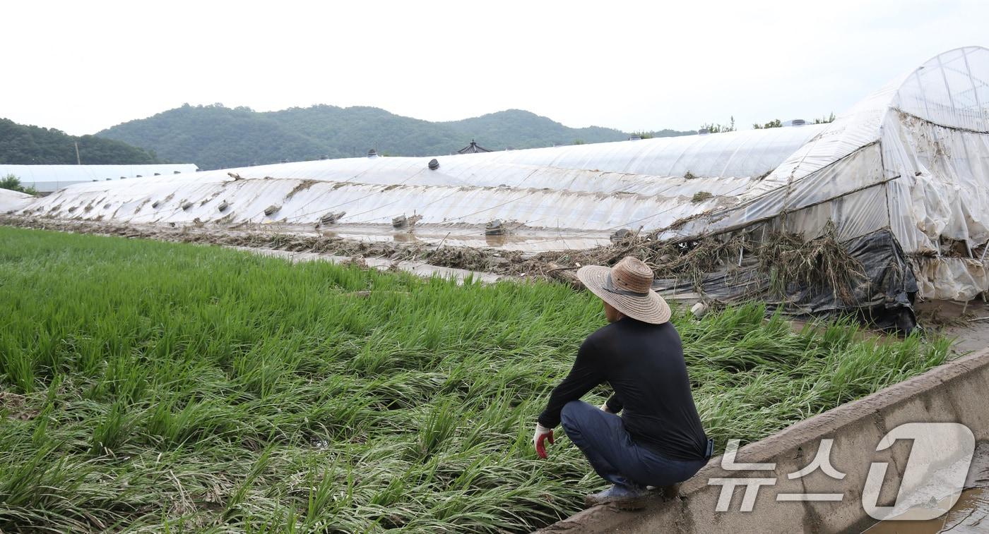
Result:
[[[986,441],[989,439],[986,395],[989,395],[989,349],[799,421],[739,450],[736,462],[774,462],[774,471],[726,471],[721,468],[719,456],[680,486],[678,498],[663,501],[657,496],[646,509],[636,512],[595,506],[541,532],[860,532],[874,522],[865,514],[860,497],[869,465],[874,461],[889,462],[887,479],[891,479],[893,473],[903,473],[910,454],[909,442],[876,452],[882,436],[905,422],[960,422],[972,430],[977,442]],[[831,463],[846,474],[845,479],[835,481],[816,471],[789,480],[787,474],[811,462],[823,438],[834,439]],[[776,482],[760,489],[753,511],[738,511],[744,486],[736,488],[730,511],[715,511],[721,486],[709,485],[709,479],[747,477],[775,477]],[[884,486],[880,503],[895,499],[897,485]],[[886,488],[890,486],[893,488]],[[777,494],[834,493],[839,489],[844,491],[841,501],[775,499]]]

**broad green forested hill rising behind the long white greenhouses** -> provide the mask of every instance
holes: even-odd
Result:
[[[656,135],[689,133],[693,132],[664,130]],[[220,105],[186,105],[118,124],[97,135],[154,150],[168,161],[195,163],[201,169],[363,156],[372,148],[391,156],[449,154],[471,139],[485,148],[502,150],[628,138],[616,129],[571,128],[520,110],[430,122],[378,108],[314,106],[262,113]]]

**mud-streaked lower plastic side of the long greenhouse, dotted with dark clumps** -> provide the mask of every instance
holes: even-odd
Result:
[[[726,182],[735,187],[735,181]],[[711,208],[724,199],[694,202],[689,197],[612,191],[476,188],[455,186],[369,185],[299,180],[240,180],[176,185],[173,181],[134,181],[97,189],[89,185],[58,191],[35,204],[41,212],[86,219],[132,222],[225,222],[313,224],[329,212],[345,212],[345,224],[391,224],[392,218],[418,214],[418,224],[484,225],[492,219],[524,222],[527,227],[608,230],[636,221],[646,228],[666,219]],[[724,186],[723,186],[724,189]],[[299,191],[296,191],[299,190]],[[296,191],[293,193],[293,191]],[[686,189],[685,191],[692,191]],[[187,205],[192,202],[193,205]],[[229,207],[221,211],[226,203]],[[265,215],[265,208],[278,211]],[[183,207],[185,206],[185,207]],[[73,209],[69,212],[68,209]]]

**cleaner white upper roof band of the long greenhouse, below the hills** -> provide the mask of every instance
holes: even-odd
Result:
[[[315,180],[385,187],[738,194],[745,190],[748,179],[772,171],[823,126],[437,156],[436,170],[428,168],[430,157],[362,157],[205,171],[155,182],[225,182],[232,173],[245,179]],[[689,175],[696,179],[684,179]],[[102,191],[116,186],[78,187]]]

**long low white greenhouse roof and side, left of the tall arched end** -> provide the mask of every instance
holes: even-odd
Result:
[[[510,221],[513,229],[584,231],[599,238],[623,227],[661,228],[737,203],[760,177],[721,174],[764,175],[820,129],[788,127],[445,156],[437,158],[436,170],[428,168],[429,158],[373,157],[87,183],[58,191],[35,208],[52,215],[141,223],[199,219],[304,225],[328,212],[345,212],[339,216],[341,225],[388,225],[394,217],[417,214],[422,217],[419,225],[481,226],[501,219]],[[713,176],[688,179],[628,172],[647,169]],[[701,194],[695,198],[697,193]],[[221,211],[224,202],[230,207]],[[265,215],[273,205],[277,211]]]

